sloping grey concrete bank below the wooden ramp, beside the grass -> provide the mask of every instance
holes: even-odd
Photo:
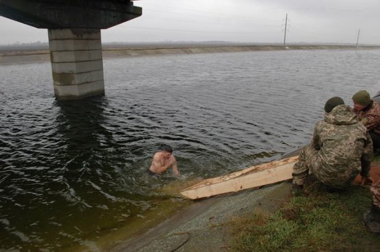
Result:
[[[228,221],[259,210],[273,212],[290,197],[291,183],[195,201],[142,236],[118,244],[112,252],[227,251],[232,234]]]

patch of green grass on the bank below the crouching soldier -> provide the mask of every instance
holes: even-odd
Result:
[[[370,204],[368,188],[328,193],[316,182],[273,214],[231,220],[229,251],[380,251],[380,235],[368,232],[362,221]]]

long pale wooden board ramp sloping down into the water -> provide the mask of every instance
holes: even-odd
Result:
[[[189,199],[201,199],[290,180],[293,166],[298,158],[299,156],[292,156],[270,163],[255,165],[225,176],[209,178],[184,189],[180,193]]]

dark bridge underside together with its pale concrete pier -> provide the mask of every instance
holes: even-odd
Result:
[[[141,16],[130,0],[0,0],[0,15],[49,30],[55,97],[104,94],[101,29]]]

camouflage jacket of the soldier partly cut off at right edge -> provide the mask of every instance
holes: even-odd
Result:
[[[373,130],[380,135],[380,105],[371,100],[371,103],[361,111],[353,109],[359,120],[366,126],[367,130]]]

